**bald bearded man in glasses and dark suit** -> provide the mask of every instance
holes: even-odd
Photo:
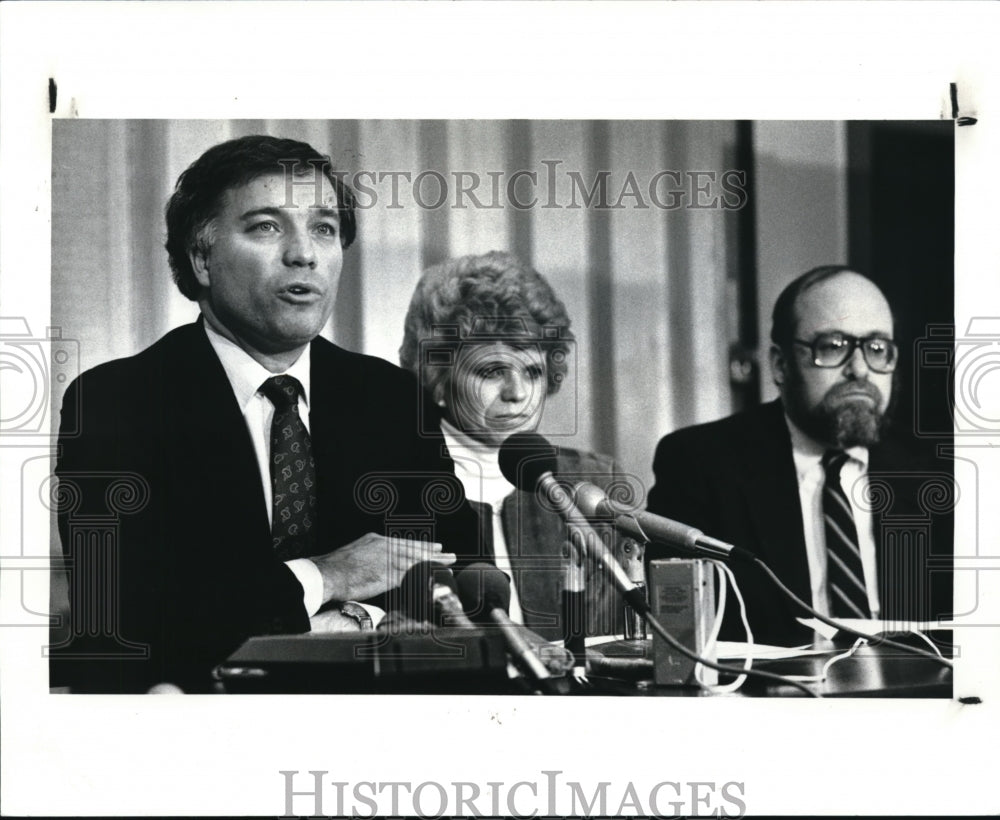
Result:
[[[951,609],[950,470],[887,435],[899,350],[882,292],[840,266],[792,282],[774,307],[780,398],[679,430],[657,447],[650,512],[761,558],[833,617],[927,620]],[[650,558],[668,557],[651,549]],[[755,640],[812,634],[757,567],[733,569]],[[730,598],[722,637],[742,639]]]

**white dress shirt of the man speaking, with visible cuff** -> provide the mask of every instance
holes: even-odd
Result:
[[[271,523],[272,494],[271,487],[271,420],[274,417],[274,405],[259,392],[260,386],[272,376],[294,376],[302,385],[302,395],[299,396],[299,416],[302,423],[309,429],[309,355],[299,356],[298,360],[284,373],[272,373],[262,364],[254,360],[246,351],[221,336],[213,330],[206,320],[204,322],[208,341],[215,350],[222,367],[232,385],[236,401],[239,403],[253,442],[254,453],[257,456],[257,467],[260,470],[261,486],[264,489],[264,502],[267,506],[267,521]],[[308,558],[296,558],[286,561],[288,567],[299,583],[302,584],[302,603],[306,613],[311,617],[323,605],[323,575]],[[377,620],[377,619],[376,619]]]

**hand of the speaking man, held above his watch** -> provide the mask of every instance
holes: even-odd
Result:
[[[367,601],[399,586],[406,571],[421,561],[441,566],[455,563],[432,541],[386,538],[373,532],[326,555],[309,559],[323,574],[323,602]]]

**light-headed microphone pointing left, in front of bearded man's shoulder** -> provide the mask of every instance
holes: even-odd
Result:
[[[573,485],[573,500],[588,518],[611,520],[622,534],[640,541],[658,541],[700,558],[753,561],[750,550],[705,535],[696,527],[662,515],[623,509],[600,487],[586,481]]]

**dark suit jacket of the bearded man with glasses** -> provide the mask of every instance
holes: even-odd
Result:
[[[649,512],[683,521],[763,559],[812,603],[798,479],[780,401],[665,436],[653,463]],[[869,450],[879,599],[883,618],[925,620],[951,613],[952,506],[949,462],[928,464],[886,441]],[[647,557],[672,557],[650,549]],[[805,616],[756,567],[732,563],[760,643],[810,640]],[[742,640],[734,596],[723,639]]]

